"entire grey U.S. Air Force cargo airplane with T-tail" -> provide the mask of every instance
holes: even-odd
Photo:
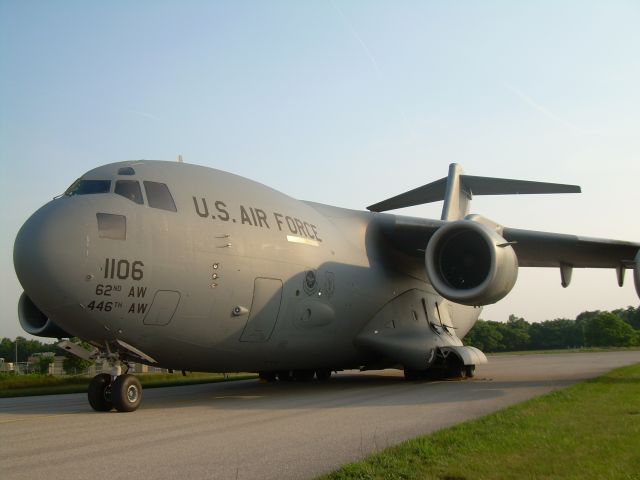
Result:
[[[462,339],[519,267],[611,268],[622,286],[640,244],[507,228],[469,215],[473,195],[580,187],[448,176],[354,211],[295,200],[230,173],[128,161],[91,170],[36,211],[14,246],[25,331],[108,362],[97,411],[133,411],[130,362],[258,372],[265,381],[402,368],[464,377],[486,362]],[[440,220],[384,213],[444,201]],[[78,337],[92,351],[68,340]]]

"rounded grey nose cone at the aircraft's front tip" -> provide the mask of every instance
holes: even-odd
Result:
[[[71,301],[87,261],[88,241],[81,208],[66,197],[49,202],[22,226],[13,264],[25,292],[41,308]]]

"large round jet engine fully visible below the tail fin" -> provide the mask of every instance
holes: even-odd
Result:
[[[458,220],[440,227],[425,253],[427,276],[447,300],[479,306],[504,298],[518,278],[518,257],[495,229]]]

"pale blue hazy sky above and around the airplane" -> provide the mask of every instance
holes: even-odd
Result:
[[[353,209],[446,176],[517,228],[640,242],[637,1],[0,0],[0,337],[16,233],[96,166],[184,160]],[[398,213],[439,218],[442,205]],[[520,269],[482,318],[637,306],[631,272]]]

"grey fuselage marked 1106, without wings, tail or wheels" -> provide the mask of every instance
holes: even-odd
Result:
[[[354,340],[407,292],[426,299],[408,314],[424,328],[437,316],[462,338],[480,313],[437,295],[423,260],[389,244],[394,215],[183,163],[114,163],[80,181],[109,185],[38,210],[14,261],[38,309],[94,344],[122,340],[175,369],[340,369],[385,361]]]

